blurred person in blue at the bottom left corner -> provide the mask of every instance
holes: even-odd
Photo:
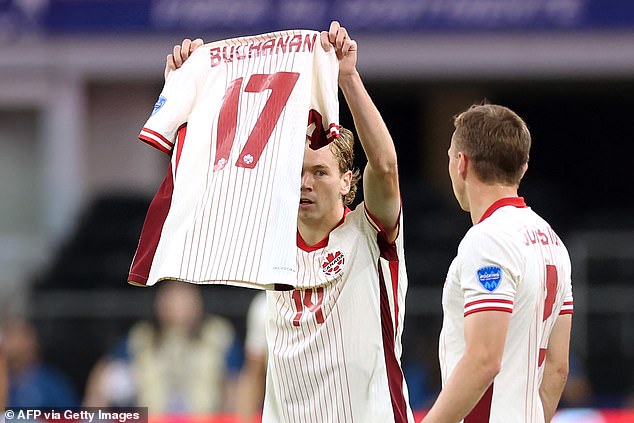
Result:
[[[9,370],[8,407],[76,407],[77,395],[59,370],[44,364],[35,328],[26,320],[10,320],[4,332]]]

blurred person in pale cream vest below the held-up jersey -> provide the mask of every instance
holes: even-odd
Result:
[[[152,321],[136,323],[95,365],[84,405],[143,406],[151,414],[231,409],[232,376],[241,361],[231,324],[204,313],[200,289],[193,284],[162,282],[154,307]]]

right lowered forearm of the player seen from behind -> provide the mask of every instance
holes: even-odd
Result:
[[[548,351],[544,362],[544,378],[539,387],[539,396],[544,407],[544,418],[549,422],[555,415],[557,404],[568,379],[568,356],[572,315],[557,318],[548,340]]]

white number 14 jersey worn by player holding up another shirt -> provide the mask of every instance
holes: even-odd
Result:
[[[407,275],[402,225],[394,243],[365,209],[328,238],[298,235],[294,291],[268,291],[264,423],[413,422],[401,369]]]

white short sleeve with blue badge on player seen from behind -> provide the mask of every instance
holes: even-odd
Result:
[[[474,229],[458,249],[464,315],[480,311],[512,313],[521,274],[513,247],[503,238]]]

